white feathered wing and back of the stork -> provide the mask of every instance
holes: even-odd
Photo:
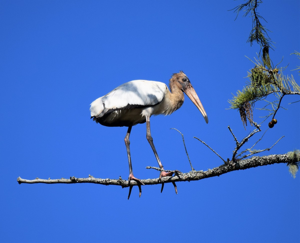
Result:
[[[122,109],[131,105],[152,106],[160,103],[167,86],[164,83],[134,80],[118,86],[91,103],[91,116],[101,117],[108,110]]]

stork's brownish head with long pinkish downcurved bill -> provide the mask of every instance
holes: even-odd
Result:
[[[172,78],[170,79],[170,86],[171,85],[177,86],[188,96],[188,98],[190,98],[190,100],[195,104],[195,106],[202,113],[202,116],[204,117],[206,123],[208,123],[208,118],[201,104],[201,101],[199,100],[199,97],[196,94],[195,89],[191,85],[190,80],[187,78],[184,72],[180,71],[179,73],[174,73]]]

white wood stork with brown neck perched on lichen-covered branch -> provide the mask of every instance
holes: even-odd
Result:
[[[167,85],[161,82],[134,80],[120,85],[107,95],[104,95],[91,103],[91,118],[97,123],[107,127],[128,127],[124,139],[129,163],[128,181],[129,185],[130,180],[135,180],[138,183],[140,196],[140,185],[144,185],[144,183],[133,175],[129,148],[129,136],[132,126],[146,122],[147,140],[151,145],[159,167],[163,170],[164,167],[158,157],[150,133],[150,117],[152,115],[160,114],[170,115],[179,109],[184,101],[184,92],[200,110],[206,123],[208,123],[207,115],[198,95],[193,89],[189,79],[182,71],[173,74],[169,85],[171,92],[167,88]],[[173,172],[161,171],[160,178],[172,175]],[[175,183],[173,184],[177,193],[176,185]],[[133,186],[130,185],[128,199],[132,187]]]

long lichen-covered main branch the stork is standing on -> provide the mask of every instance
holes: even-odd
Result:
[[[275,163],[287,163],[288,165],[291,163],[298,163],[298,159],[300,158],[300,152],[297,151],[297,153],[294,156],[290,156],[289,154],[276,154],[276,155],[268,155],[268,156],[253,156],[249,159],[244,160],[235,160],[225,162],[223,165],[220,165],[213,169],[208,169],[207,171],[190,171],[188,173],[184,174],[176,174],[174,177],[162,177],[161,182],[159,181],[159,178],[156,179],[146,179],[141,180],[145,185],[156,185],[161,183],[175,183],[177,181],[191,181],[191,180],[202,180],[204,178],[208,177],[214,177],[214,176],[220,176],[222,174],[228,173],[230,171],[236,171],[236,170],[244,170],[248,168],[253,168],[257,166],[263,166],[263,165],[271,165]],[[101,178],[95,178],[91,175],[89,175],[88,178],[76,178],[76,177],[70,177],[70,179],[39,179],[36,178],[35,180],[26,180],[22,179],[21,177],[17,178],[17,181],[19,184],[21,183],[46,183],[46,184],[56,184],[56,183],[63,183],[63,184],[73,184],[73,183],[95,183],[95,184],[101,184],[101,185],[116,185],[116,186],[122,186],[128,187],[128,186],[138,186],[138,183],[134,180],[131,180],[130,185],[128,184],[128,180],[123,180],[121,177],[119,179],[101,179]]]

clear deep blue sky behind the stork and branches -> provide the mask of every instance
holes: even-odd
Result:
[[[231,158],[244,127],[228,100],[247,79],[257,45],[246,43],[251,18],[227,11],[243,1],[1,1],[0,242],[299,242],[300,180],[285,164],[234,171],[196,182],[134,187],[21,184],[17,177],[128,178],[126,127],[90,120],[89,104],[135,79],[168,83],[183,70],[208,115],[186,98],[171,116],[151,119],[165,169],[196,170]],[[293,75],[300,50],[299,1],[264,1],[259,13],[276,42],[274,63]],[[235,21],[234,21],[235,20]],[[286,97],[278,123],[256,148],[261,155],[299,149],[298,97]],[[259,108],[263,103],[256,104]],[[254,110],[254,119],[263,114]],[[267,123],[262,125],[263,132]],[[258,133],[246,146],[251,147]],[[131,132],[134,175],[157,178],[146,126]],[[246,148],[246,147],[245,147]]]

